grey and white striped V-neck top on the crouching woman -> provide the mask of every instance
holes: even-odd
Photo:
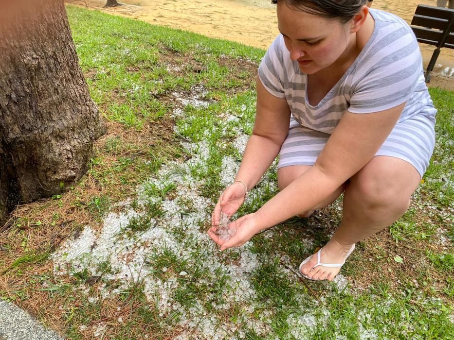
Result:
[[[279,35],[258,74],[274,96],[286,98],[293,118],[310,129],[331,134],[345,111],[372,113],[406,102],[399,122],[422,114],[435,121],[436,109],[424,82],[418,42],[408,24],[393,14],[371,9],[375,28],[353,64],[315,106],[306,94],[307,75]]]

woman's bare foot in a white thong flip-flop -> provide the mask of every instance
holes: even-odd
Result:
[[[343,246],[339,244],[335,239],[331,238],[320,252],[320,262],[342,264],[352,247],[353,245]],[[321,265],[313,268],[316,264],[317,253],[312,255],[309,261],[301,267],[301,272],[312,280],[332,281],[341,270],[341,267],[325,267]]]

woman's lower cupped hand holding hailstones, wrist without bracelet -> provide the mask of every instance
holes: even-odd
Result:
[[[229,223],[229,228],[236,229],[236,233],[228,240],[222,240],[221,238],[219,238],[217,234],[217,228],[218,227],[216,226],[211,227],[208,230],[208,235],[213,239],[213,241],[221,246],[221,251],[232,247],[241,247],[244,243],[249,241],[256,233],[260,231],[257,228],[254,213],[244,215],[238,220]]]

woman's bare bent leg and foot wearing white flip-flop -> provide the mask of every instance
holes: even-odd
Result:
[[[351,246],[397,221],[408,209],[420,182],[418,171],[394,157],[376,156],[354,175],[345,188],[341,224],[321,252],[322,263],[342,263]],[[317,280],[332,280],[340,268],[318,266],[312,256],[302,268]]]

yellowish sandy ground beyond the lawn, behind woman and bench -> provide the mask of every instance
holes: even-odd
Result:
[[[126,0],[122,1],[124,6],[111,8],[103,8],[106,0],[67,2],[262,49],[279,34],[275,5],[270,0]],[[373,7],[394,13],[410,23],[418,4],[435,6],[436,1],[375,0]],[[419,46],[426,67],[434,47]],[[454,50],[441,50],[429,85],[454,91]]]

